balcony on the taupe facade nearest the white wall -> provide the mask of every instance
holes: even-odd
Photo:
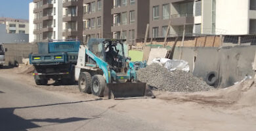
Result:
[[[194,24],[193,14],[173,14],[171,15],[172,26],[183,26]]]

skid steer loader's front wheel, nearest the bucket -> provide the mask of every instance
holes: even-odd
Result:
[[[91,91],[95,96],[103,97],[106,81],[102,75],[95,75],[91,83]]]

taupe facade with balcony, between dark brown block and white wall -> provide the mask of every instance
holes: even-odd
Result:
[[[193,0],[150,0],[150,37],[165,37],[170,24],[169,35],[181,35],[194,31]]]

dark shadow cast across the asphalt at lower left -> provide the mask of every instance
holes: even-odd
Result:
[[[26,107],[11,107],[11,108],[0,108],[0,130],[26,130],[29,128],[39,128],[41,126],[34,124],[33,122],[50,122],[50,123],[67,123],[67,122],[75,122],[75,121],[85,121],[88,118],[77,118],[70,117],[66,119],[23,119],[18,115],[14,114],[15,109],[26,109],[26,108],[36,108],[36,107],[46,107],[53,105],[64,105],[64,104],[73,104],[73,103],[82,103],[82,102],[91,102],[96,100],[88,100],[88,101],[79,101],[79,102],[66,102],[66,103],[53,103],[47,105],[35,105],[35,106],[26,106]]]

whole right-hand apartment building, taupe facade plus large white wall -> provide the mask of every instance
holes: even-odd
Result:
[[[150,0],[150,37],[256,33],[255,0]]]

